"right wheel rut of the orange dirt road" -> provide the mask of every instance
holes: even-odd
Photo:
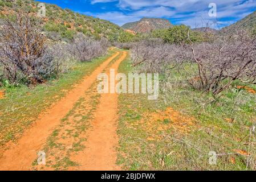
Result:
[[[117,70],[121,61],[127,57],[127,52],[123,52],[109,69]],[[107,74],[109,75],[109,69]],[[101,94],[100,103],[97,106],[95,119],[92,121],[92,129],[88,131],[85,150],[78,155],[72,156],[72,160],[80,164],[72,170],[100,170],[113,171],[121,168],[116,165],[118,145],[117,138],[117,118],[118,118],[118,95]]]

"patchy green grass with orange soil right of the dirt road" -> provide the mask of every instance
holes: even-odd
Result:
[[[119,72],[131,71],[127,59]],[[159,100],[148,101],[144,94],[121,94],[118,163],[129,170],[254,170],[256,147],[250,129],[255,125],[256,95],[236,89],[237,85],[241,83],[234,82],[212,102],[210,94],[190,88],[183,77],[172,72],[165,84],[160,82]],[[169,119],[149,125],[148,115],[166,107],[195,118],[195,127],[182,133]],[[250,157],[235,154],[235,150],[249,152]],[[209,164],[210,151],[220,154],[217,165]]]

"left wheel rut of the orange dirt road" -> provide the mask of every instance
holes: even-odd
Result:
[[[10,143],[9,149],[3,153],[3,157],[0,159],[0,170],[29,170],[32,162],[37,158],[36,153],[60,123],[60,120],[65,117],[79,98],[95,82],[97,75],[103,72],[107,65],[119,54],[119,52],[116,52],[109,57],[90,76],[83,78],[83,81],[76,85],[66,97],[51,106],[45,113],[40,114],[38,120],[17,143]],[[107,113],[105,114],[107,115]]]

